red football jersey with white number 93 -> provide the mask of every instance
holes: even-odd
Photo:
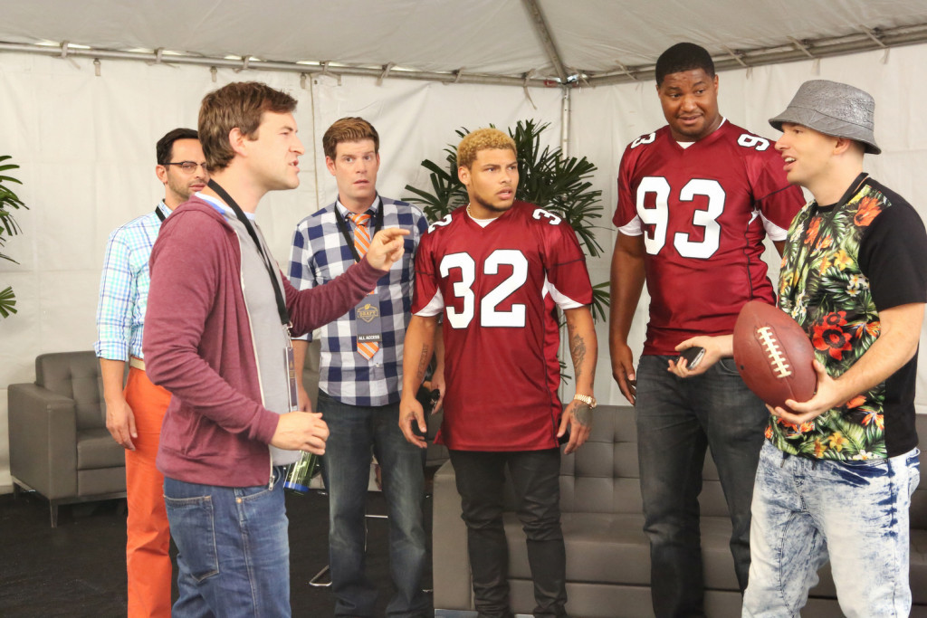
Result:
[[[644,234],[644,354],[675,354],[697,334],[730,334],[748,300],[774,302],[763,239],[784,240],[805,203],[782,165],[772,141],[728,121],[687,148],[665,126],[625,149],[613,222]]]

